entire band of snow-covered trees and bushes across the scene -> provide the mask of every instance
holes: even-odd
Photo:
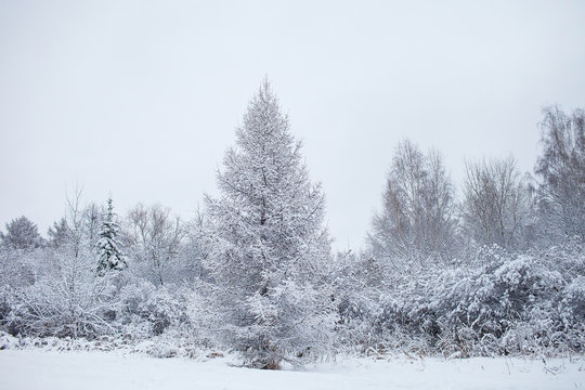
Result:
[[[583,352],[585,114],[543,110],[535,176],[395,148],[366,247],[333,253],[325,200],[268,81],[193,221],[81,205],[43,239],[0,233],[0,326],[14,336],[227,348],[277,368],[336,351],[453,356]]]

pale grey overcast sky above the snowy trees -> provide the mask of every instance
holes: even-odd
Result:
[[[0,0],[0,226],[76,183],[192,218],[264,75],[360,247],[403,138],[532,169],[541,108],[585,107],[585,1]]]

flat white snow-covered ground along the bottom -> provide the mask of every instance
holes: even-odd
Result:
[[[0,351],[0,389],[584,389],[585,359],[343,359],[302,372],[115,352]]]

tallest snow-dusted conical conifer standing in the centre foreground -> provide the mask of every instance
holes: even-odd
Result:
[[[264,80],[218,173],[221,195],[206,197],[204,261],[222,330],[255,367],[318,353],[335,322],[325,200],[300,148]]]

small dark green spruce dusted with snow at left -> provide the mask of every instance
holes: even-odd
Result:
[[[121,243],[118,239],[120,230],[116,222],[112,198],[107,199],[107,211],[100,229],[100,239],[96,247],[99,252],[98,274],[103,275],[109,270],[123,270],[126,268],[126,256],[121,250]]]

